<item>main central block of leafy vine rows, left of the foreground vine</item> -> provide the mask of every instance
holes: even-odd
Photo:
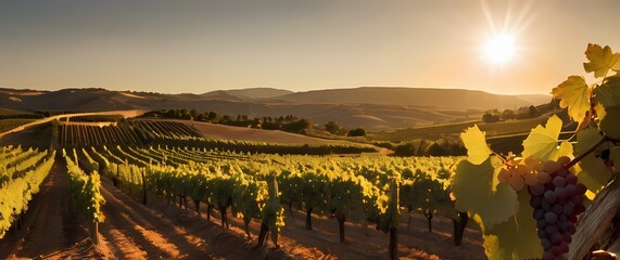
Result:
[[[429,232],[433,216],[453,218],[457,245],[468,221],[450,199],[452,168],[460,159],[456,157],[248,156],[130,146],[90,147],[73,154],[83,168],[99,170],[143,204],[150,191],[185,208],[191,202],[197,213],[204,205],[207,220],[217,212],[223,227],[229,229],[229,216],[242,219],[248,238],[252,237],[250,222],[261,222],[257,246],[271,232],[278,247],[278,232],[287,222],[284,206],[291,213],[306,212],[307,230],[313,229],[313,213],[336,218],[341,243],[346,240],[345,221],[397,233],[401,207],[407,209],[403,216],[409,216],[409,222],[414,211],[426,216]]]

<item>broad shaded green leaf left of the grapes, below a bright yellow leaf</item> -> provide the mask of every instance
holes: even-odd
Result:
[[[489,157],[480,165],[461,160],[456,168],[453,187],[456,209],[478,214],[481,226],[486,229],[508,220],[519,206],[517,193],[509,184],[501,183],[493,192],[493,179],[497,178],[492,165],[494,159],[498,158]]]

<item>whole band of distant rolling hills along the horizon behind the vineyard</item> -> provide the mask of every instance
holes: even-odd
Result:
[[[276,98],[261,98],[279,93]],[[245,96],[245,98],[242,98]],[[336,120],[350,128],[393,129],[479,119],[484,109],[546,103],[544,95],[496,95],[482,91],[358,88],[290,93],[275,89],[212,91],[204,94],[63,89],[0,89],[0,108],[35,112],[194,108],[219,115],[294,115],[319,126]]]

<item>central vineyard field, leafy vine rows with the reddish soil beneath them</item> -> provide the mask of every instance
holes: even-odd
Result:
[[[278,183],[278,194],[280,195],[276,197],[277,200],[274,203],[280,205],[278,207],[281,207],[282,214],[278,218],[283,222],[278,224],[280,227],[274,229],[279,230],[278,245],[280,249],[263,251],[262,253],[267,253],[270,256],[269,258],[276,259],[288,257],[388,258],[388,248],[380,245],[388,243],[389,235],[381,232],[380,230],[383,227],[379,226],[384,223],[382,220],[388,220],[389,216],[392,216],[388,214],[389,211],[384,211],[390,208],[388,204],[391,195],[388,190],[390,180],[393,178],[391,177],[393,173],[390,172],[400,169],[398,171],[403,172],[402,176],[398,176],[398,182],[402,183],[402,207],[409,208],[412,211],[404,210],[398,217],[402,220],[400,225],[403,225],[400,240],[402,245],[398,247],[398,253],[405,258],[458,258],[459,255],[464,253],[463,250],[467,250],[469,251],[467,253],[472,253],[473,259],[483,259],[480,238],[476,238],[480,236],[480,233],[476,229],[466,227],[465,237],[467,238],[463,242],[464,246],[454,247],[452,242],[453,223],[447,217],[456,213],[445,213],[451,208],[454,209],[454,205],[446,197],[447,194],[440,197],[427,197],[425,199],[427,204],[409,198],[405,199],[405,197],[418,196],[414,193],[408,195],[413,190],[406,187],[414,185],[413,180],[428,180],[429,183],[434,183],[436,188],[446,191],[446,181],[452,174],[451,169],[461,159],[458,157],[398,159],[378,155],[362,157],[249,155],[205,148],[131,145],[83,146],[65,150],[64,153],[66,155],[60,161],[67,161],[66,167],[69,172],[92,172],[89,174],[101,172],[100,191],[101,197],[105,202],[101,203],[100,206],[104,217],[99,225],[99,237],[101,239],[100,245],[107,246],[98,246],[97,253],[99,255],[89,255],[91,257],[205,258],[205,256],[211,256],[217,258],[217,256],[241,256],[242,259],[246,258],[250,255],[243,253],[252,253],[250,246],[255,245],[261,239],[261,222],[273,221],[265,219],[267,211],[264,211],[266,208],[261,205],[269,204],[267,203],[269,202],[268,176],[269,172],[277,172],[275,180]],[[72,170],[77,169],[76,167],[79,170]],[[312,214],[307,214],[309,200],[302,199],[303,196],[306,196],[302,192],[305,187],[295,187],[305,183],[302,180],[307,180],[304,179],[307,177],[326,181],[324,185],[327,190],[316,186],[317,182],[308,183],[315,185],[317,191],[321,191],[311,197],[325,202],[332,200],[332,203],[322,206],[320,203],[312,204],[314,205],[312,206],[314,208]],[[192,184],[195,183],[194,181],[201,181],[205,186],[195,186]],[[241,185],[240,183],[245,184]],[[299,184],[291,185],[294,183]],[[365,192],[359,193],[362,197],[353,196],[341,200],[339,204],[349,206],[340,208],[339,204],[333,204],[337,202],[333,199],[341,197],[334,190],[341,185],[344,186],[340,188],[344,188],[343,191],[347,191],[347,193],[353,191]],[[251,195],[239,188],[257,188],[254,190],[257,193]],[[431,187],[429,186],[429,188]],[[441,194],[441,192],[436,193],[438,191],[433,194]],[[255,197],[257,194],[263,194],[260,195],[263,198]],[[302,194],[302,197],[294,196],[295,194]],[[251,196],[244,197],[248,195]],[[359,199],[363,197],[368,202],[362,203]],[[143,205],[143,203],[147,204]],[[76,205],[81,205],[81,203]],[[357,205],[355,206],[357,209],[346,209],[353,205]],[[337,209],[336,217],[331,212],[332,207]],[[84,212],[84,210],[79,212]],[[164,213],[161,216],[156,212]],[[345,222],[337,221],[339,212],[345,216]],[[428,230],[429,213],[435,214],[434,219],[431,218],[432,233],[429,233]],[[186,221],[175,221],[179,217]],[[80,219],[83,223],[89,222],[84,221],[86,218],[80,217]],[[308,223],[312,223],[312,230],[307,230]],[[410,226],[407,226],[409,223]],[[147,240],[155,239],[159,243],[155,243],[154,247],[142,247],[142,242],[131,238],[136,237],[138,233],[127,231],[134,225],[145,229],[143,232],[147,233],[142,233],[142,235],[145,235]],[[90,227],[88,224],[85,226]],[[184,233],[185,235],[180,236],[175,235],[180,234],[178,231],[166,230],[173,226],[184,230],[204,229],[200,226],[213,227]],[[375,226],[379,230],[376,230]],[[341,227],[344,227],[344,236],[338,232]],[[215,238],[225,234],[228,234],[226,236],[229,238]],[[191,239],[199,244],[187,244],[182,242],[181,237],[186,237],[186,239],[193,237]],[[252,242],[248,240],[248,237],[252,237]],[[339,237],[344,237],[342,240],[344,243],[339,242],[341,239]],[[430,237],[427,238],[430,240],[425,240],[421,237]],[[357,243],[358,240],[367,240],[367,243]],[[80,243],[84,244],[84,242]],[[208,246],[199,246],[200,243],[208,244]],[[267,243],[271,242],[266,242],[266,245]],[[431,248],[420,248],[420,244]],[[115,246],[110,247],[111,245]],[[230,250],[236,245],[246,245],[246,247]],[[443,246],[438,247],[438,245]],[[24,246],[31,248],[31,245]],[[269,244],[269,247],[273,246],[274,244]],[[130,248],[140,248],[140,250],[130,252],[132,250]],[[372,249],[369,250],[369,248]],[[63,253],[78,253],[79,247],[72,247],[66,250]],[[2,248],[0,248],[0,252],[2,252]],[[26,252],[21,251],[20,253]]]

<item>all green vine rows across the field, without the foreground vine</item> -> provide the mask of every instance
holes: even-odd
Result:
[[[328,225],[321,222],[333,221],[336,243],[342,245],[358,239],[359,232],[377,230],[384,233],[378,238],[390,240],[390,246],[377,248],[384,250],[382,253],[370,253],[379,258],[396,258],[398,243],[412,245],[406,240],[398,242],[398,226],[402,221],[408,223],[404,232],[408,233],[412,222],[420,221],[416,216],[423,216],[427,226],[423,230],[431,233],[433,218],[439,217],[440,221],[453,219],[443,224],[454,225],[454,234],[450,236],[453,242],[448,244],[460,245],[464,237],[469,217],[456,211],[450,198],[452,176],[460,160],[457,157],[313,156],[308,154],[355,154],[376,150],[340,142],[298,145],[205,140],[178,121],[97,121],[93,118],[98,119],[67,117],[52,121],[52,142],[55,140],[59,145],[56,152],[22,151],[21,147],[3,150],[3,157],[11,158],[3,160],[7,161],[2,174],[3,194],[30,194],[20,202],[20,207],[15,207],[15,203],[2,203],[8,210],[2,212],[2,219],[7,220],[4,232],[17,232],[28,222],[23,216],[28,200],[38,192],[33,187],[41,185],[55,164],[68,173],[69,205],[75,208],[93,244],[113,238],[101,237],[110,229],[107,222],[121,225],[117,217],[106,218],[110,211],[106,204],[115,203],[110,188],[118,188],[124,192],[123,196],[147,206],[166,202],[166,205],[177,205],[185,210],[191,208],[198,220],[205,214],[206,223],[219,223],[222,232],[238,230],[239,239],[252,248],[280,248],[265,252],[279,256],[276,258],[317,258],[326,253],[295,255],[291,251],[296,214],[303,214],[303,218],[296,217],[304,220],[302,230],[317,236],[325,233],[320,226]],[[46,174],[30,171],[46,171]],[[58,174],[49,178],[59,178]],[[36,182],[20,188],[33,191],[15,193],[11,184],[18,183],[18,177],[30,176]],[[405,210],[401,212],[401,208]],[[324,239],[329,240],[329,237]],[[302,244],[303,248],[313,245]],[[0,252],[3,250],[0,247]],[[115,253],[119,252],[112,252]]]

